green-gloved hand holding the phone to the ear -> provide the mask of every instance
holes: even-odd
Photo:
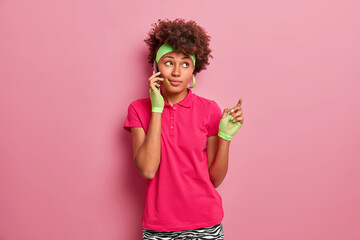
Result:
[[[153,74],[149,78],[149,93],[151,98],[152,112],[162,113],[165,103],[163,96],[157,88],[160,87],[160,84],[158,84],[157,81],[163,81],[164,79],[161,78],[159,75],[160,72],[155,73],[153,71]]]

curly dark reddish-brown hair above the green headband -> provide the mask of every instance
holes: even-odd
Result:
[[[209,57],[213,58],[209,48],[210,36],[195,21],[185,22],[181,18],[173,21],[159,19],[152,26],[148,37],[144,40],[149,46],[148,60],[151,65],[155,60],[157,50],[164,43],[169,43],[174,50],[195,55],[194,75],[209,65]]]

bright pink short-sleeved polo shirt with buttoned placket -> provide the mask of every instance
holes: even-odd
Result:
[[[143,228],[181,231],[210,227],[224,217],[222,199],[210,181],[207,138],[219,131],[222,111],[213,101],[192,93],[161,115],[160,166],[146,182]],[[137,99],[128,108],[124,128],[142,127],[147,134],[151,99]]]

